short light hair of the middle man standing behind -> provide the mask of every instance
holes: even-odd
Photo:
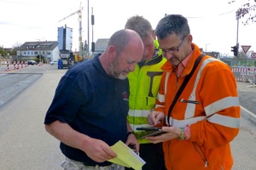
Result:
[[[125,24],[126,29],[136,31],[138,35],[143,39],[152,34],[153,28],[148,20],[143,16],[135,15],[129,18]]]

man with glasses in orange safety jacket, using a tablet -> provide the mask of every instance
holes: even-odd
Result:
[[[168,62],[162,66],[160,91],[148,123],[165,123],[161,130],[166,133],[146,139],[163,142],[168,170],[231,169],[230,142],[239,132],[240,105],[230,67],[203,56],[172,107],[201,51],[182,15],[166,15],[155,33]]]

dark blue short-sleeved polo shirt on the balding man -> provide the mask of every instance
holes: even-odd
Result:
[[[129,82],[110,77],[98,57],[74,65],[61,77],[44,124],[59,120],[91,138],[109,145],[126,140],[129,110]],[[75,139],[74,139],[75,140]],[[90,147],[90,145],[88,145]],[[92,161],[82,150],[61,143],[62,153],[87,165],[106,166]]]

